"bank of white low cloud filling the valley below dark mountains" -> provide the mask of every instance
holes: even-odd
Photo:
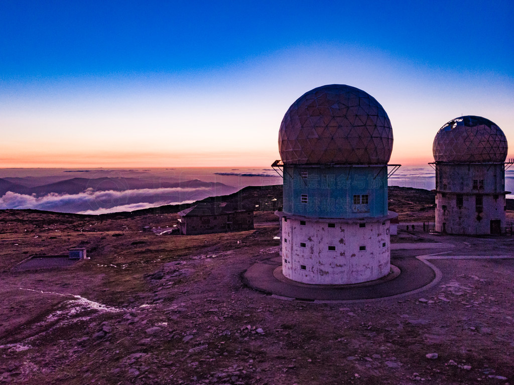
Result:
[[[169,204],[189,203],[206,198],[213,190],[199,188],[134,189],[93,191],[78,194],[50,193],[41,197],[8,191],[0,197],[0,209],[35,209],[69,213],[101,214],[131,211]]]

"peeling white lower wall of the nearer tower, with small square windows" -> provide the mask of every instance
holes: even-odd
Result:
[[[349,222],[307,217],[284,220],[283,217],[281,220],[282,271],[291,280],[352,284],[381,278],[390,271],[389,219]],[[329,223],[335,227],[328,227]]]

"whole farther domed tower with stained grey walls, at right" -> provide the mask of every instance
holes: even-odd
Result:
[[[505,229],[507,138],[480,116],[461,116],[437,132],[435,230],[449,234],[501,234]]]

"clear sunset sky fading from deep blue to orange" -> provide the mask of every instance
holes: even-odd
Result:
[[[287,108],[348,84],[386,109],[391,162],[497,123],[514,157],[514,3],[0,2],[0,168],[269,166]]]

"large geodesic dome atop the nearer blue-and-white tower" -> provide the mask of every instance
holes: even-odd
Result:
[[[392,149],[386,111],[371,95],[349,85],[308,91],[280,124],[279,152],[286,164],[385,164]]]

